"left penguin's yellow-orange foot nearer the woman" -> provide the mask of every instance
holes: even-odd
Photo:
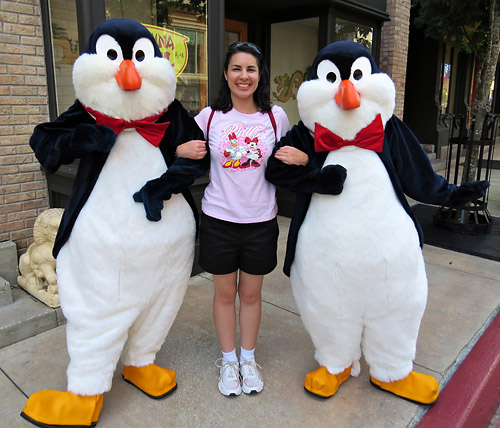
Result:
[[[154,399],[163,398],[177,388],[175,371],[156,364],[144,367],[125,366],[123,379]]]

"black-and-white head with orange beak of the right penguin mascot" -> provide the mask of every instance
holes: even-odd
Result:
[[[378,114],[385,126],[395,99],[391,78],[379,72],[368,49],[351,41],[320,50],[297,93],[300,118],[311,132],[320,124],[345,140],[352,140]]]

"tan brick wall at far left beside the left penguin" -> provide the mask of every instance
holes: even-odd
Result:
[[[30,146],[49,120],[39,0],[0,0],[0,242],[18,254],[47,209],[47,183]]]

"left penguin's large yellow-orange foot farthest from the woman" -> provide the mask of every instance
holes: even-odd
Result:
[[[21,413],[39,427],[94,427],[99,419],[103,395],[76,395],[69,391],[38,391]]]

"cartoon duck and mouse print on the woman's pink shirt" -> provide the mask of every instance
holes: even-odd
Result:
[[[243,123],[224,129],[219,140],[222,167],[233,171],[260,167],[259,159],[267,152],[267,146],[261,137],[261,126],[248,126]]]

